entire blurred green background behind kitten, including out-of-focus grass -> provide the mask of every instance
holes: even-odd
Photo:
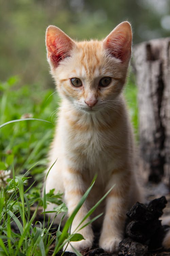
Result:
[[[170,35],[170,0],[0,0],[0,125],[21,117],[55,123],[58,96],[46,60],[48,25],[73,39],[102,39],[129,20],[134,44]],[[125,97],[138,130],[137,88],[130,75]],[[29,114],[29,115],[28,115]],[[0,170],[28,170],[41,179],[54,125],[38,121],[0,129]]]

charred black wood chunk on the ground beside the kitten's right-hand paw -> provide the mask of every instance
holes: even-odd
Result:
[[[162,226],[159,217],[163,214],[162,210],[165,208],[166,203],[167,200],[163,196],[152,200],[148,204],[148,207],[137,202],[127,212],[126,215],[130,218],[130,222],[126,226],[125,234],[129,240],[125,240],[125,242],[130,243],[129,250],[132,250],[132,241],[137,242],[137,244],[142,243],[144,246],[148,246],[149,249],[154,250],[162,246],[166,230]],[[135,246],[135,244],[133,246]],[[128,245],[126,245],[125,252],[127,251],[127,248]],[[129,253],[132,252],[129,251]]]

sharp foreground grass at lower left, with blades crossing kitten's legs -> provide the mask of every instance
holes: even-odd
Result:
[[[49,170],[50,171],[50,170]],[[48,175],[48,174],[47,174]],[[48,220],[48,226],[45,226],[45,214],[46,206],[48,202],[53,202],[56,205],[53,211],[55,216],[63,213],[63,217],[67,213],[67,207],[61,202],[61,194],[54,195],[54,190],[51,190],[46,194],[44,188],[44,196],[41,197],[38,189],[33,188],[33,184],[24,189],[29,177],[16,176],[13,169],[13,179],[4,179],[1,184],[0,190],[0,255],[2,256],[46,256],[49,253],[50,246],[55,244],[52,256],[55,256],[63,246],[68,245],[71,241],[81,241],[83,236],[78,233],[82,228],[95,221],[102,214],[99,214],[95,218],[91,219],[88,223],[84,224],[84,221],[96,210],[98,205],[105,199],[108,193],[112,190],[109,189],[107,193],[92,207],[77,228],[71,233],[71,225],[75,215],[78,213],[82,204],[86,200],[87,196],[92,189],[96,177],[91,182],[90,187],[82,196],[77,207],[67,219],[63,230],[61,231],[61,224],[58,226],[55,236],[52,234],[51,226],[54,222]],[[31,213],[32,205],[35,205],[34,211]],[[43,207],[44,211],[41,214],[44,215],[43,223],[36,221],[37,212],[39,207]],[[63,219],[62,217],[62,219]],[[61,222],[62,222],[61,219]],[[15,223],[19,229],[16,232],[12,229],[11,224]],[[33,223],[35,224],[33,226]],[[53,232],[54,233],[54,232]],[[66,246],[67,248],[67,246]],[[65,250],[66,250],[65,248]],[[80,256],[81,254],[72,247],[74,252]]]

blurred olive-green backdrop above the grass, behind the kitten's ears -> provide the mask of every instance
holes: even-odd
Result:
[[[170,0],[0,0],[0,80],[52,86],[45,31],[55,25],[74,39],[102,39],[129,20],[134,44],[170,35]]]

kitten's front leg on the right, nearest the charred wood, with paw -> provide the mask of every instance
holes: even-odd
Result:
[[[126,212],[129,205],[131,173],[124,168],[113,171],[107,190],[114,188],[106,198],[105,216],[99,246],[108,253],[118,250],[123,239]]]

